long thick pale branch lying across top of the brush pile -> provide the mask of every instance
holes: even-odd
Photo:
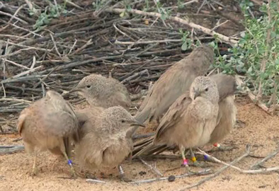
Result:
[[[142,16],[154,16],[154,17],[161,17],[161,14],[160,13],[154,13],[154,12],[144,12],[144,11],[139,11],[139,10],[136,10],[136,9],[131,9],[130,11],[128,10],[125,10],[124,8],[108,8],[106,9],[106,11],[108,12],[114,12],[114,13],[122,13],[123,11],[127,11],[129,13],[135,13],[135,14],[138,14],[138,15],[142,15]],[[220,38],[220,40],[223,40],[225,42],[229,42],[231,43],[232,45],[236,45],[238,43],[237,40],[233,40],[232,38],[230,37],[227,37],[225,35],[222,35],[220,33],[216,33],[215,31],[213,30],[210,30],[209,28],[205,28],[201,25],[197,25],[195,23],[191,23],[190,21],[186,20],[186,19],[182,19],[182,18],[178,18],[177,16],[169,16],[168,18],[169,20],[171,21],[176,21],[178,23],[182,23],[184,25],[188,25],[190,26],[191,28],[195,28],[195,29],[198,29],[198,30],[202,30],[203,33],[207,33],[208,35],[216,35],[217,37]]]

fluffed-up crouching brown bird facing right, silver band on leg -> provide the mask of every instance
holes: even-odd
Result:
[[[80,128],[80,141],[76,144],[79,163],[86,168],[118,166],[120,177],[125,180],[120,163],[133,149],[133,132],[144,125],[120,106],[92,108],[91,112],[82,112],[78,117],[84,121],[84,125]]]

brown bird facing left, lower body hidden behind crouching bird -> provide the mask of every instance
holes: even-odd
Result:
[[[79,84],[69,91],[69,93],[76,91],[86,98],[89,105],[102,108],[119,105],[126,110],[129,110],[131,106],[131,99],[127,88],[113,78],[91,74],[81,79]]]

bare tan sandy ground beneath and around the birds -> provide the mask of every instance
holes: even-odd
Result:
[[[215,151],[211,153],[212,156],[229,163],[244,154],[246,144],[251,145],[251,154],[254,156],[264,157],[271,154],[278,146],[279,118],[266,114],[246,98],[237,98],[237,108],[238,120],[244,122],[245,125],[238,125],[234,128],[232,134],[222,143],[225,146],[236,146],[237,148],[232,151]],[[18,135],[1,135],[0,144],[22,144],[21,141],[13,141],[16,138]],[[263,165],[266,167],[279,166],[278,159],[279,156],[275,156]],[[261,158],[246,157],[236,166],[241,169],[249,169],[252,164],[259,160]],[[76,161],[74,160],[74,162]],[[185,173],[184,168],[179,168],[181,159],[156,159],[147,162],[156,163],[156,168],[165,177]],[[114,168],[102,170],[102,172],[100,170],[92,171],[93,175],[107,183],[91,184],[86,183],[84,178],[77,180],[59,178],[69,177],[69,167],[62,157],[52,156],[47,152],[40,154],[38,158],[40,170],[35,178],[30,177],[32,163],[31,156],[25,154],[25,151],[0,156],[0,190],[179,190],[206,177],[204,175],[176,179],[171,183],[164,180],[132,185],[131,183],[121,183],[118,179],[118,170]],[[219,163],[207,162],[207,164],[214,171],[222,167]],[[149,170],[140,161],[125,161],[123,167],[127,177],[133,180],[156,178],[152,170]],[[176,170],[171,170],[173,168]],[[76,170],[81,171],[78,165],[76,165]],[[200,168],[193,167],[193,170],[200,170]],[[279,190],[278,184],[278,173],[248,175],[228,169],[216,178],[194,187],[192,190]]]

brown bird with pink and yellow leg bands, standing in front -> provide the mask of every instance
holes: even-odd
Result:
[[[180,96],[161,118],[153,144],[139,154],[158,144],[176,145],[181,151],[183,164],[188,167],[185,149],[203,146],[210,141],[210,134],[216,127],[218,101],[215,81],[210,77],[196,77],[190,91]]]

